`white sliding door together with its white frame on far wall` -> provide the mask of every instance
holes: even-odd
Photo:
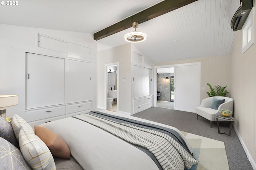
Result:
[[[157,72],[161,70],[159,68],[170,67],[174,68],[173,109],[195,113],[195,108],[200,105],[201,96],[201,63],[199,62],[154,66],[154,107],[158,106],[157,99],[159,100]]]

